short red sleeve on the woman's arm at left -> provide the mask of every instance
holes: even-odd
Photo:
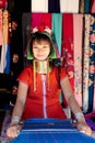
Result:
[[[32,82],[32,67],[25,68],[17,77],[17,80],[29,85]]]

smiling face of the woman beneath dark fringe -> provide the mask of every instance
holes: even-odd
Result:
[[[50,43],[48,41],[34,41],[33,55],[37,61],[45,61],[50,54]]]

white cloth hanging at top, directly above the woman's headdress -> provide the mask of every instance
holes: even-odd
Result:
[[[32,0],[31,11],[48,12],[48,0],[41,0],[40,2],[38,0]]]

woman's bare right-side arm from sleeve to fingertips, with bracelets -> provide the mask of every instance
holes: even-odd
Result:
[[[86,124],[82,110],[81,110],[78,101],[74,98],[74,94],[73,94],[72,87],[70,85],[69,78],[66,77],[66,78],[61,79],[60,85],[61,85],[64,98],[68,102],[68,106],[70,107],[71,111],[73,112],[74,117],[78,120],[78,129],[80,131],[85,132],[86,134],[91,135],[92,130]]]

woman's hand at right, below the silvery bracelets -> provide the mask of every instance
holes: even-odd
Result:
[[[86,122],[78,122],[76,124],[78,130],[80,130],[81,132],[87,134],[87,135],[92,135],[92,130],[91,128],[86,124]]]

